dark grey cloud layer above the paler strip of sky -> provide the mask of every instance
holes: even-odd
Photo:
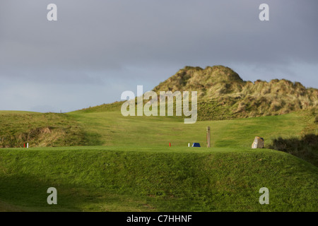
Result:
[[[273,12],[266,23],[258,20],[255,1],[56,1],[56,23],[45,20],[44,3],[22,4],[24,13],[8,16],[13,26],[4,28],[11,34],[6,35],[11,42],[6,43],[11,52],[6,59],[22,66],[80,69],[190,57],[317,61],[317,29],[311,25],[318,17],[308,18],[311,8],[305,4],[289,2],[269,1]]]

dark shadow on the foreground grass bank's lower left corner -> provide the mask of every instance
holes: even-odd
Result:
[[[57,205],[47,203],[47,189],[55,187],[58,191]],[[51,212],[51,211],[80,211],[76,206],[80,199],[69,194],[69,187],[37,179],[32,175],[3,175],[0,178],[0,202],[3,203],[1,211],[9,212]],[[83,197],[80,197],[83,198]],[[1,204],[0,203],[0,204]],[[16,206],[16,208],[11,208]]]

